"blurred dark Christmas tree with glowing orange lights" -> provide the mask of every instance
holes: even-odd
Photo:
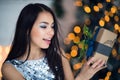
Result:
[[[74,0],[73,5],[77,7],[75,15],[77,22],[64,40],[67,47],[66,57],[73,72],[76,75],[86,62],[86,52],[90,40],[94,38],[95,27],[98,26],[116,33],[117,39],[107,62],[108,67],[98,72],[92,80],[120,80],[120,1]],[[60,10],[63,10],[62,7]]]

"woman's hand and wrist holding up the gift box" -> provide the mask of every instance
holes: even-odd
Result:
[[[96,72],[103,68],[106,68],[105,61],[102,59],[95,61],[94,57],[92,57],[83,65],[81,72],[76,77],[76,80],[89,80]]]

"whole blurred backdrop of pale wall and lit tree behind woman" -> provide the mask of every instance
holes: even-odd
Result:
[[[55,12],[60,24],[60,45],[75,76],[86,62],[95,28],[117,34],[108,67],[91,80],[120,80],[120,0],[0,0],[0,68],[8,55],[21,9],[36,2],[46,4]]]

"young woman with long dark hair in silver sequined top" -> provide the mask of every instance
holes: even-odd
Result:
[[[21,11],[10,53],[2,66],[5,80],[89,80],[104,68],[104,61],[91,58],[74,79],[58,43],[58,25],[44,4],[28,4]]]

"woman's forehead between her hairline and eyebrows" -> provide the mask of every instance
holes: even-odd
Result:
[[[37,22],[49,22],[49,23],[53,23],[53,16],[51,13],[49,12],[46,12],[46,11],[43,11],[43,12],[40,12],[38,14],[38,17],[37,17]]]

